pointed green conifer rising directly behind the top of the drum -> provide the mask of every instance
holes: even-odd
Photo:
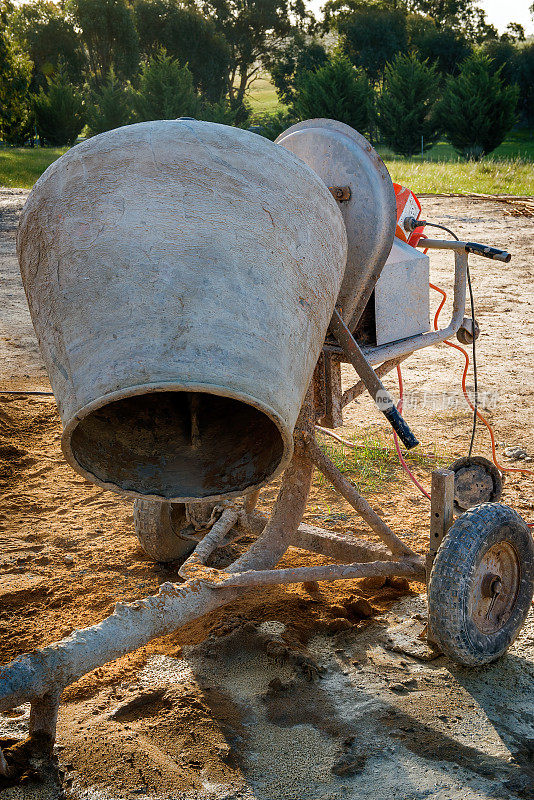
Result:
[[[133,93],[133,106],[140,122],[196,117],[200,100],[187,65],[180,66],[163,48],[158,50],[141,67],[139,89]]]

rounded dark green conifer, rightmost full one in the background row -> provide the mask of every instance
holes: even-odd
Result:
[[[465,158],[478,160],[503,141],[515,122],[519,90],[507,86],[499,68],[475,53],[449,78],[440,105],[447,138]]]

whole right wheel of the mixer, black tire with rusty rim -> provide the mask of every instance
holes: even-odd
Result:
[[[432,637],[464,666],[495,661],[517,637],[534,594],[534,540],[508,506],[462,514],[443,539],[428,587]]]

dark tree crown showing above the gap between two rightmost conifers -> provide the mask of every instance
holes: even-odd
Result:
[[[421,61],[434,61],[439,72],[455,75],[460,64],[472,53],[472,46],[460,31],[441,26],[420,14],[407,18],[408,42]]]

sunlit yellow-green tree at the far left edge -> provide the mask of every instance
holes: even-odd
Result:
[[[0,139],[20,145],[33,139],[32,62],[6,35],[8,9],[0,6]]]

